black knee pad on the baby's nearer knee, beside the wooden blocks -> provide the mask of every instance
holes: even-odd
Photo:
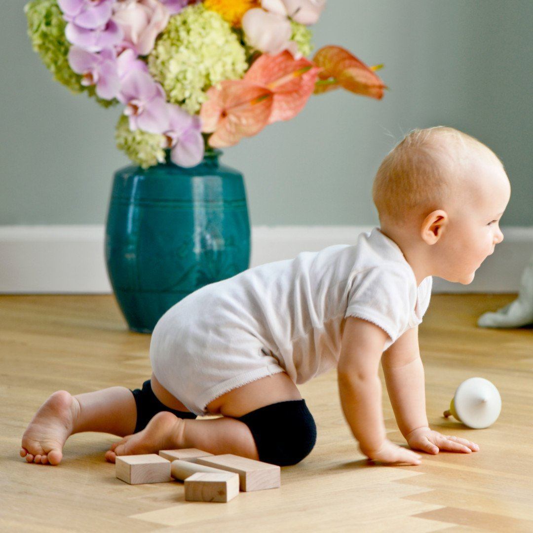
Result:
[[[317,426],[305,400],[272,403],[237,418],[252,432],[259,460],[279,466],[295,465],[317,442]]]

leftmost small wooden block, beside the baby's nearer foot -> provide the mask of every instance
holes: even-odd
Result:
[[[116,458],[115,472],[118,479],[137,485],[170,481],[170,463],[157,454],[122,455]]]

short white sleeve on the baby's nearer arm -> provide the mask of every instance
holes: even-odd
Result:
[[[411,285],[401,268],[375,266],[361,272],[354,278],[344,316],[373,322],[395,342],[409,325]]]

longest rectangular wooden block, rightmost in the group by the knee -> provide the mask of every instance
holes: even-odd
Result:
[[[281,469],[278,465],[254,461],[238,455],[224,454],[199,457],[197,463],[239,474],[240,490],[275,489],[281,486]]]

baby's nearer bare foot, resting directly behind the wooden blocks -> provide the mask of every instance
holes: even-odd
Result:
[[[180,448],[182,433],[183,419],[161,411],[142,431],[115,442],[106,451],[106,460],[114,463],[117,455],[157,454],[159,450]]]

